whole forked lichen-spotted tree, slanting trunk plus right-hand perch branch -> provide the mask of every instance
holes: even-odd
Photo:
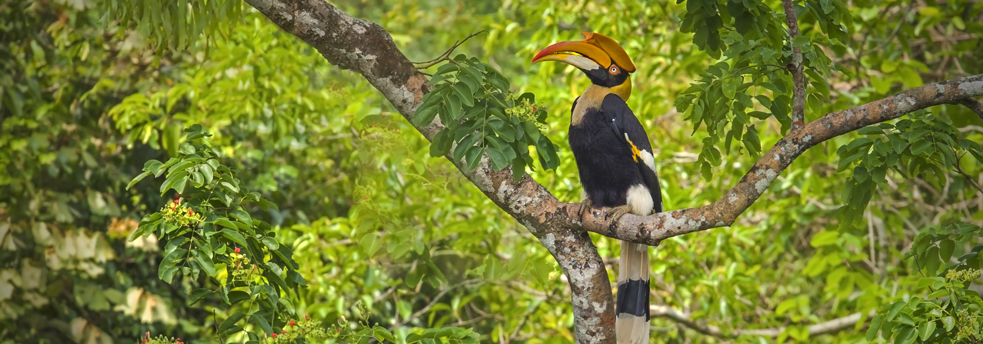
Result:
[[[363,75],[409,123],[424,94],[427,78],[392,42],[385,29],[354,18],[323,0],[246,0],[274,24],[318,49],[331,64]],[[607,228],[607,208],[578,218],[578,203],[556,200],[528,174],[515,183],[510,168],[494,171],[486,156],[472,172],[457,166],[489,199],[526,226],[563,269],[574,310],[576,341],[614,343],[614,303],[604,261],[584,229],[611,238],[658,245],[677,235],[728,226],[775,181],[805,149],[838,135],[905,113],[983,94],[983,76],[909,89],[896,96],[829,114],[792,131],[772,147],[720,201],[698,208],[642,217],[627,214]],[[438,118],[415,127],[427,140],[443,128]]]

